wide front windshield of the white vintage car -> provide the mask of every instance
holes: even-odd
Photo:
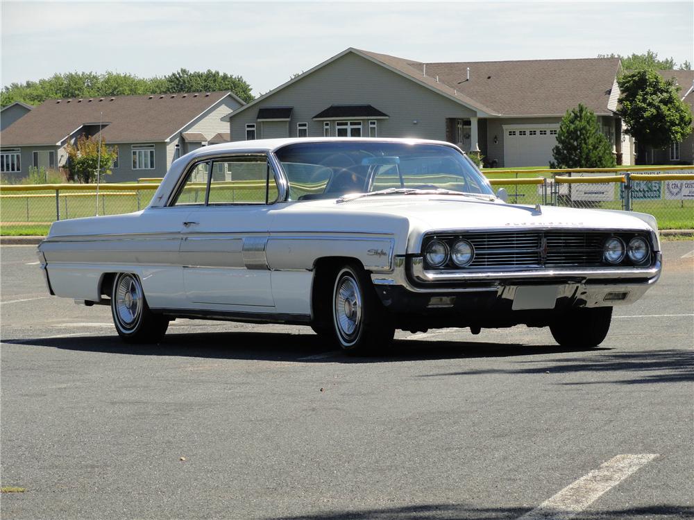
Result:
[[[328,141],[290,144],[276,155],[289,180],[289,200],[434,190],[493,196],[474,164],[441,144]]]

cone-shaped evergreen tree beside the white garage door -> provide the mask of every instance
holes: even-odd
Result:
[[[600,132],[593,111],[579,104],[567,110],[559,124],[550,168],[613,168],[612,146]]]

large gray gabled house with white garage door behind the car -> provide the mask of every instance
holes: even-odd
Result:
[[[631,164],[613,112],[619,72],[617,58],[424,63],[350,48],[233,112],[230,134],[422,137],[493,166],[546,166],[561,116],[583,103]]]

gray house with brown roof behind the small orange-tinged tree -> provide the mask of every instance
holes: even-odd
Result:
[[[0,132],[2,177],[26,177],[30,166],[65,166],[65,144],[99,133],[118,148],[108,182],[162,177],[171,162],[229,140],[228,115],[244,105],[230,92],[51,99]]]

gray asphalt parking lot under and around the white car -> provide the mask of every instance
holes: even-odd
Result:
[[[694,241],[598,349],[444,329],[375,358],[194,320],[124,345],[34,250],[0,248],[3,518],[694,517]]]

